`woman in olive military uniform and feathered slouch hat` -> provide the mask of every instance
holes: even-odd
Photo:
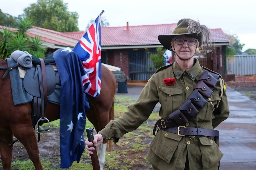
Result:
[[[194,58],[202,44],[208,48],[209,38],[209,29],[191,19],[180,20],[172,35],[159,35],[175,62],[152,75],[128,111],[94,136],[94,145],[109,139],[117,143],[146,121],[159,102],[162,119],[154,127],[147,155],[153,170],[217,170],[223,154],[217,145],[219,132],[213,129],[229,116],[225,85],[219,74]],[[92,154],[94,148],[88,145],[93,143],[85,143]]]

